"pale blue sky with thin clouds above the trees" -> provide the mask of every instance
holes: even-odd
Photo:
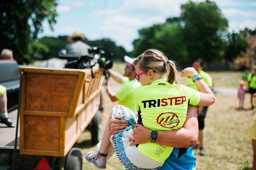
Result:
[[[195,0],[194,2],[203,2]],[[89,40],[110,38],[127,51],[138,30],[180,16],[188,0],[58,0],[57,23],[51,31],[45,21],[42,36],[71,35],[75,31]],[[256,0],[214,0],[229,21],[229,31],[256,28]]]

